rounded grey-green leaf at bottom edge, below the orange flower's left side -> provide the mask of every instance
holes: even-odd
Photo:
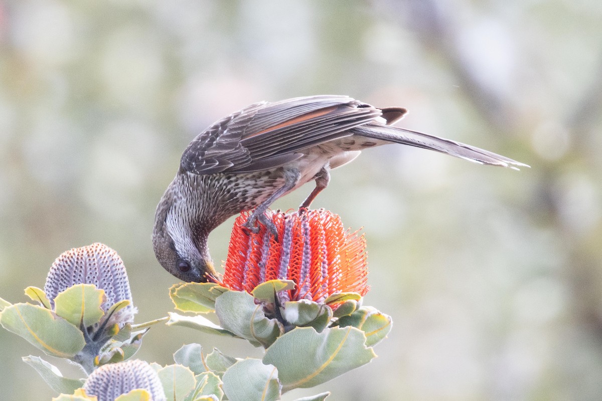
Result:
[[[278,370],[261,360],[238,361],[224,373],[223,390],[230,401],[279,400]]]

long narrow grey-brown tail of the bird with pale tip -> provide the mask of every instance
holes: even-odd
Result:
[[[383,124],[364,124],[354,127],[352,132],[356,135],[367,136],[368,138],[435,150],[436,152],[456,156],[456,158],[466,159],[479,164],[509,167],[514,170],[519,170],[518,167],[529,167],[529,165],[497,155],[488,150],[400,127]]]

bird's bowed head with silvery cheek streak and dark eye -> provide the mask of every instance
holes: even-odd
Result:
[[[182,281],[217,282],[217,272],[206,245],[208,232],[191,227],[187,216],[166,195],[155,214],[153,248],[157,260]]]

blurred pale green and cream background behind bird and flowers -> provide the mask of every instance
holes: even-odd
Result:
[[[283,399],[600,400],[601,19],[597,0],[0,1],[0,296],[24,302],[98,241],[125,261],[137,321],[165,316],[176,280],[151,232],[188,142],[249,103],[346,94],[532,168],[390,145],[335,170],[313,206],[364,227],[365,304],[394,327],[371,364]],[[192,342],[260,355],[156,326],[137,356]],[[29,354],[0,329],[2,399],[55,395]]]

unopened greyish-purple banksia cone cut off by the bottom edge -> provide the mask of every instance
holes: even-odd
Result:
[[[101,366],[88,376],[84,385],[85,393],[98,397],[98,401],[114,401],[120,395],[140,388],[151,394],[152,401],[166,401],[157,372],[140,360]]]

